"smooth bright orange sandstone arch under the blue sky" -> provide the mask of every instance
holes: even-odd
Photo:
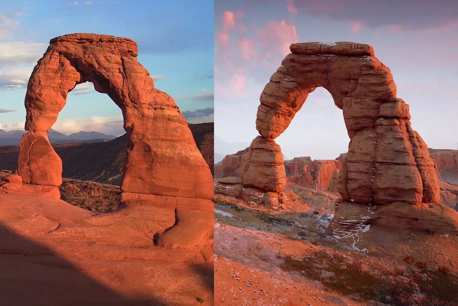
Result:
[[[213,229],[210,169],[174,100],[154,89],[149,72],[136,60],[136,42],[109,35],[75,33],[51,39],[49,44],[27,85],[25,129],[28,133],[21,139],[18,161],[23,183],[42,186],[62,183],[62,162],[49,144],[46,131],[65,106],[68,92],[77,84],[92,82],[98,92],[109,95],[120,107],[124,129],[129,134],[121,200],[153,201],[153,205],[164,202],[165,206],[177,209],[172,228],[184,226],[191,232],[202,232],[205,228],[207,233],[199,233],[200,238],[210,237],[210,226]],[[203,221],[196,211],[206,211]],[[190,230],[196,222],[201,229]],[[164,243],[180,245],[176,239],[178,233],[173,233],[165,232],[170,241]],[[178,240],[186,244],[184,240],[192,235],[195,233]]]

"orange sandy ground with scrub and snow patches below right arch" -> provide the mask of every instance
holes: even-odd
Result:
[[[360,252],[326,214],[218,196],[215,305],[458,305],[458,239],[412,234]]]

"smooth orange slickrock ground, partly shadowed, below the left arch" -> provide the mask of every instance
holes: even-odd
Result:
[[[57,188],[57,187],[56,187]],[[96,213],[59,199],[0,193],[3,305],[213,305],[213,250],[154,246],[174,209]]]

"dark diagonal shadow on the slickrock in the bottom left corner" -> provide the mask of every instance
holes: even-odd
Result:
[[[121,295],[48,247],[12,233],[3,225],[0,241],[2,305],[175,306],[151,295]]]

